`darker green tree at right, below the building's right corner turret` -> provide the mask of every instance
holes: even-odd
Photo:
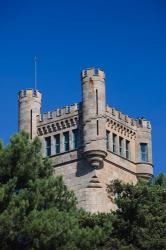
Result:
[[[116,197],[113,230],[105,249],[166,249],[166,176],[137,185],[116,180],[108,187]]]

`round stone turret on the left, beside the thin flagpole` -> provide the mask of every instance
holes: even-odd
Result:
[[[31,139],[37,136],[37,116],[41,110],[41,93],[27,89],[19,92],[19,130],[29,133]]]

